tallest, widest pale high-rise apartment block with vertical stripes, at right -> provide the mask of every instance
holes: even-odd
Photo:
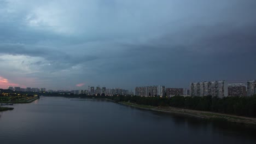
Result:
[[[228,96],[228,85],[225,81],[212,81],[212,82],[197,82],[190,84],[190,95],[191,96],[207,96],[213,97],[227,97]]]

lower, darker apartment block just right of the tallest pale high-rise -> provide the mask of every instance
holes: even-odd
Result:
[[[228,95],[230,97],[244,97],[247,95],[245,83],[229,83]]]

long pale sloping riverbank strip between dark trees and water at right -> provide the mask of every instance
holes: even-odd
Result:
[[[148,105],[138,105],[138,104],[133,104],[125,101],[121,101],[119,102],[119,104],[136,107],[138,109],[155,111],[155,112],[177,113],[177,114],[188,115],[188,116],[193,116],[197,118],[256,125],[256,118],[250,118],[250,117],[234,116],[234,115],[214,113],[214,112],[208,112],[208,111],[180,109],[180,108],[170,107],[170,106],[157,107],[157,106],[148,106]]]

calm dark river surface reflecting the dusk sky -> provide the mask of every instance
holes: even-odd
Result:
[[[41,97],[0,112],[0,143],[256,143],[256,130],[109,101]],[[255,133],[255,134],[254,134]]]

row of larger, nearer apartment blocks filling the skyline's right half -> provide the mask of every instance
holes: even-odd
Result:
[[[224,97],[245,97],[256,94],[256,81],[248,81],[245,83],[227,83],[226,81],[203,81],[190,83],[190,88],[165,88],[165,86],[146,86],[136,87],[135,95],[141,97],[165,96],[173,97],[181,96],[208,96],[224,98]]]

